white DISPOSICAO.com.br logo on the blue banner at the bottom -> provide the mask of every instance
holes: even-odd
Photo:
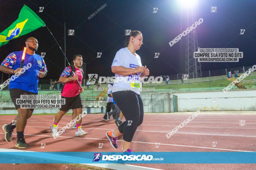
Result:
[[[94,153],[93,162],[99,161],[102,157],[102,161],[151,161],[151,160],[163,160],[164,158],[153,158],[152,155],[102,155],[101,153]]]

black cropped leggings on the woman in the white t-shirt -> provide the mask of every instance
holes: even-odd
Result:
[[[131,142],[137,127],[143,122],[144,112],[141,95],[133,91],[113,92],[112,95],[126,119],[118,127],[118,130],[123,134],[123,140]],[[131,120],[132,122],[130,122]]]

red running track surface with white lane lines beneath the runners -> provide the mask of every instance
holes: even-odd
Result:
[[[143,124],[138,127],[131,148],[133,151],[256,151],[256,115],[203,115],[200,114],[190,123],[167,139],[166,134],[183,122],[190,115],[145,114]],[[0,126],[9,124],[15,116],[0,116]],[[65,151],[65,152],[113,152],[119,151],[111,147],[106,138],[106,131],[116,128],[114,120],[104,121],[103,114],[89,114],[83,118],[82,129],[87,136],[76,137],[74,129],[67,129],[54,140],[49,127],[54,115],[34,115],[25,129],[26,142],[30,144],[27,151]],[[239,120],[246,120],[244,126]],[[59,127],[71,121],[71,115],[64,115]],[[17,149],[16,131],[13,140],[6,142],[3,131],[0,131],[0,148]],[[155,148],[155,143],[160,146]],[[212,142],[217,142],[212,147]],[[44,149],[40,149],[45,143]],[[104,143],[98,148],[98,143]],[[122,148],[122,137],[118,145]],[[256,169],[256,164],[133,164],[157,169]]]

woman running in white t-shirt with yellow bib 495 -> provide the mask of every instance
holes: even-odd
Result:
[[[113,99],[122,110],[126,121],[114,131],[106,132],[106,136],[114,149],[118,149],[117,138],[123,134],[122,152],[131,153],[131,140],[143,121],[143,102],[140,95],[140,77],[148,76],[147,66],[143,67],[141,58],[136,54],[142,43],[142,33],[131,31],[125,39],[125,48],[120,49],[113,60],[111,70],[116,81],[112,88]]]

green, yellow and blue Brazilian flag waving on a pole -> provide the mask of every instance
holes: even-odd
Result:
[[[19,12],[18,19],[0,33],[0,47],[12,39],[33,32],[42,26],[45,26],[44,21],[28,6],[24,5]]]

